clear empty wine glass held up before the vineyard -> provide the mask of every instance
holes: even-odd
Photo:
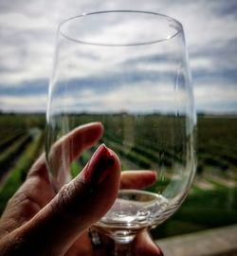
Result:
[[[56,190],[82,170],[105,143],[123,170],[153,170],[144,190],[119,190],[94,229],[129,255],[141,229],[164,222],[179,208],[195,173],[196,116],[182,25],[171,17],[135,10],[100,11],[64,21],[57,35],[47,106],[46,155]],[[54,143],[75,127],[100,121],[98,145],[73,162],[70,147],[52,162]],[[138,177],[137,177],[138,178]]]

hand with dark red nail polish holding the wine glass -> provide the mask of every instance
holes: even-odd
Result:
[[[70,161],[98,142],[103,128],[91,123],[73,130],[59,140],[51,157],[59,155],[64,144],[73,140]],[[142,177],[137,178],[137,175]],[[109,255],[107,239],[93,249],[87,229],[113,205],[118,187],[141,188],[155,182],[152,171],[122,172],[118,156],[101,145],[81,174],[57,194],[52,189],[42,155],[31,167],[27,180],[9,200],[0,220],[1,255]],[[162,255],[149,234],[135,239],[136,255]]]

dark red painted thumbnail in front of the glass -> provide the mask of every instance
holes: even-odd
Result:
[[[109,174],[109,167],[115,163],[115,156],[101,144],[87,164],[83,179],[88,184],[100,184]]]

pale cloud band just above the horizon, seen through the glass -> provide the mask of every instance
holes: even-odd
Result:
[[[176,113],[185,111],[187,92],[176,91],[172,83],[136,82],[115,87],[81,88],[55,98],[52,112],[92,113]]]

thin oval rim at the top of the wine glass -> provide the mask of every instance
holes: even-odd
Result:
[[[83,17],[87,17],[90,15],[97,15],[97,14],[106,14],[106,13],[139,13],[139,14],[149,14],[149,15],[155,15],[157,17],[159,17],[160,19],[166,20],[167,22],[173,22],[173,24],[175,24],[175,32],[173,34],[170,34],[169,36],[165,37],[165,38],[161,38],[161,39],[156,39],[156,40],[151,40],[151,41],[147,41],[144,43],[133,43],[133,44],[104,44],[104,43],[93,43],[90,41],[83,41],[83,40],[79,40],[76,38],[71,37],[70,35],[67,35],[66,33],[64,33],[62,27],[64,27],[64,25],[66,25],[69,22],[72,22],[76,19],[79,18],[83,18]],[[116,10],[101,10],[101,11],[93,11],[93,12],[85,12],[76,16],[72,16],[69,17],[67,19],[65,19],[64,21],[62,21],[59,24],[58,27],[58,33],[60,33],[65,39],[67,39],[68,41],[74,42],[74,43],[79,43],[82,45],[88,45],[88,46],[145,46],[145,45],[153,45],[156,43],[161,43],[161,42],[166,42],[168,40],[171,40],[175,37],[177,37],[179,34],[183,34],[184,30],[183,30],[183,26],[182,24],[174,19],[171,16],[165,15],[165,14],[161,14],[155,11],[147,11],[147,10],[136,10],[136,9],[116,9]]]

